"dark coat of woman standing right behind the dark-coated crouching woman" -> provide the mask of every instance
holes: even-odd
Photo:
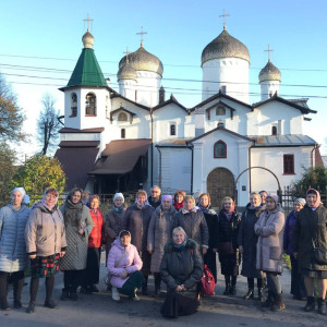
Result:
[[[194,208],[191,213],[182,209],[174,215],[172,229],[182,227],[189,239],[197,243],[201,247],[208,247],[209,231],[206,219],[198,208]]]

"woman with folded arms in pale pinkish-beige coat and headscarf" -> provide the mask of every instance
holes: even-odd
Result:
[[[281,286],[278,275],[282,272],[282,240],[283,240],[284,215],[278,204],[276,194],[266,197],[266,209],[261,214],[254,226],[258,235],[256,252],[256,268],[267,274],[268,298],[264,307],[272,311],[283,310]]]

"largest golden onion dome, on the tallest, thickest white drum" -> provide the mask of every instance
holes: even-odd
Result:
[[[202,51],[202,64],[206,61],[220,58],[240,58],[249,61],[247,48],[238,39],[232,37],[223,27],[223,31],[210,41]]]

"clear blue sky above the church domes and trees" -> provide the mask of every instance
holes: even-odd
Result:
[[[251,104],[259,100],[258,73],[267,63],[268,44],[272,63],[281,71],[280,96],[308,97],[317,110],[305,122],[304,133],[323,144],[327,137],[327,1],[326,0],[57,0],[1,1],[0,72],[11,83],[33,134],[45,93],[57,98],[63,112],[64,86],[83,48],[89,13],[94,22],[95,53],[105,77],[116,88],[118,62],[126,47],[140,47],[136,35],[144,26],[144,47],[164,63],[168,95],[185,107],[201,101],[201,53],[222,31],[222,10],[228,32],[250,51]],[[37,57],[37,58],[28,58]],[[48,58],[48,59],[46,59]],[[184,81],[170,81],[173,78]],[[291,86],[294,85],[294,86]],[[35,145],[21,149],[31,156]]]

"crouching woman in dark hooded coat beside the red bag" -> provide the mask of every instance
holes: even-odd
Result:
[[[196,242],[187,240],[181,227],[173,229],[172,241],[165,246],[160,272],[167,284],[167,296],[161,307],[162,316],[177,318],[196,313],[203,259]]]

